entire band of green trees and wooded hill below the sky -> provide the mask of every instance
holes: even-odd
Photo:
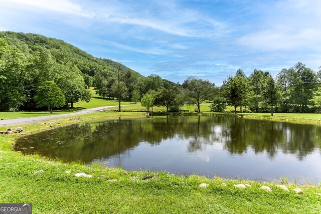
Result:
[[[321,69],[320,69],[321,70]],[[204,102],[211,111],[318,112],[321,108],[321,71],[302,63],[282,69],[275,77],[255,69],[249,76],[239,69],[217,87],[206,79],[188,77],[183,84],[158,75],[143,77],[119,62],[94,58],[61,40],[35,34],[0,32],[0,111],[45,106],[73,107],[89,101],[89,87],[103,98],[141,102],[149,111],[165,106],[180,111]],[[239,109],[239,110],[238,110]]]

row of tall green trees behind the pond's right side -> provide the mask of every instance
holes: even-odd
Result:
[[[321,107],[320,73],[302,63],[282,69],[275,78],[269,72],[255,69],[246,77],[242,70],[229,76],[214,99],[216,110],[224,103],[240,112],[314,113]],[[215,108],[214,108],[215,109]]]

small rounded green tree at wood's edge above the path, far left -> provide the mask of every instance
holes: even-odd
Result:
[[[35,100],[38,107],[48,106],[51,113],[54,107],[65,105],[63,92],[57,84],[52,81],[45,81],[38,87]]]

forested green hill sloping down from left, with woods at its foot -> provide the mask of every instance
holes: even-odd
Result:
[[[0,32],[0,111],[61,106],[57,100],[40,105],[35,99],[40,89],[45,90],[44,94],[54,93],[50,91],[53,89],[61,90],[65,105],[71,103],[71,106],[79,100],[90,100],[90,86],[101,96],[118,98],[116,80],[125,89],[122,97],[131,97],[135,89],[141,95],[157,89],[157,84],[175,85],[157,75],[145,78],[118,62],[93,57],[62,40],[37,34]],[[61,93],[55,91],[54,94]]]

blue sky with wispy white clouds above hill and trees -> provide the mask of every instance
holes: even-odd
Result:
[[[144,76],[221,85],[241,68],[321,66],[319,0],[1,0],[0,31],[42,34]]]

